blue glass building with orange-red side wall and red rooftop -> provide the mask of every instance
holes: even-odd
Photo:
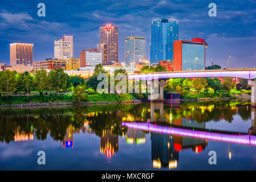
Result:
[[[173,44],[174,71],[205,69],[205,39],[194,38],[192,41],[178,40]]]

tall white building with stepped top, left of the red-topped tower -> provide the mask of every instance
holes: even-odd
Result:
[[[60,40],[54,41],[54,58],[69,59],[74,57],[73,35],[63,35]]]

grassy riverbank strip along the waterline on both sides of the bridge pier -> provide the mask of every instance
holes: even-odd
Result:
[[[199,94],[200,95],[200,94]],[[204,95],[206,96],[206,95]],[[250,100],[250,94],[223,94],[223,97],[181,97],[179,101],[221,101],[221,100]],[[83,106],[83,105],[106,105],[150,102],[139,100],[132,94],[92,94],[87,95],[84,100],[74,102],[74,95],[51,94],[48,96],[8,96],[0,97],[0,108],[22,108],[22,107],[52,107],[52,106]],[[174,101],[174,100],[173,100]],[[176,100],[177,101],[177,100]],[[166,103],[172,100],[165,100]],[[175,102],[175,101],[174,101]]]

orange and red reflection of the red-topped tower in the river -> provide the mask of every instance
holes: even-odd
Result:
[[[118,150],[118,136],[113,135],[111,130],[103,130],[103,134],[100,137],[100,154],[105,154],[110,158]]]

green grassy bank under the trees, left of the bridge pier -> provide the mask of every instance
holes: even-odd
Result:
[[[74,95],[60,95],[55,94],[43,96],[8,96],[0,97],[0,105],[13,105],[13,104],[26,104],[28,102],[35,103],[46,103],[46,102],[72,102],[74,100]],[[132,101],[131,94],[95,94],[88,95],[86,100],[83,102],[124,102]]]

